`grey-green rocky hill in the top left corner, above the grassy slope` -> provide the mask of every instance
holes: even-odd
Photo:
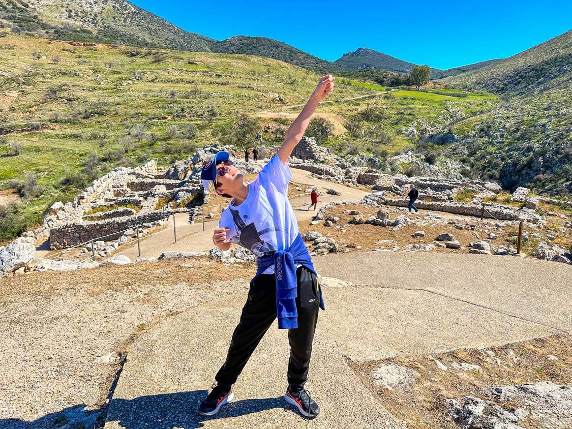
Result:
[[[0,0],[0,23],[14,33],[77,42],[192,51],[209,51],[215,42],[125,0]]]

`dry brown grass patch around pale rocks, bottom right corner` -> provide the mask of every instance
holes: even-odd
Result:
[[[552,335],[544,338],[490,347],[494,356],[488,356],[479,349],[459,349],[435,355],[396,356],[382,361],[350,363],[352,370],[382,402],[391,414],[407,422],[411,429],[456,429],[448,418],[447,399],[464,396],[487,396],[492,387],[507,384],[536,383],[550,380],[556,384],[572,384],[572,339],[566,335]],[[559,360],[550,361],[547,355]],[[438,370],[434,360],[438,359],[448,367]],[[498,359],[498,361],[496,360]],[[452,363],[479,365],[482,371],[457,372]],[[420,374],[412,384],[402,389],[387,390],[374,383],[371,374],[383,364],[395,363]],[[508,410],[517,405],[499,403]],[[526,418],[523,427],[538,428],[538,422]]]

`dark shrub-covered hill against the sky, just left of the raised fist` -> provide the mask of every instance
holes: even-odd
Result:
[[[267,37],[234,36],[214,43],[211,50],[226,54],[257,55],[259,57],[279,59],[306,69],[329,70],[329,72],[339,69],[339,66],[335,63],[314,57],[286,43]]]

